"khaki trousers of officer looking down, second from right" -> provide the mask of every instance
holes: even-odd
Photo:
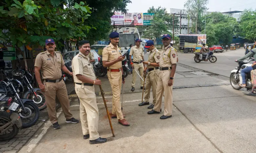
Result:
[[[156,105],[156,101],[157,101],[157,81],[158,81],[158,77],[159,77],[159,69],[155,69],[148,72],[147,76],[146,76],[146,90],[145,90],[145,97],[144,97],[144,102],[149,102],[149,98],[150,98],[150,89],[152,86],[152,93],[153,93],[153,105]]]

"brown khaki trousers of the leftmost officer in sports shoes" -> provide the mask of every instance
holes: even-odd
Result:
[[[69,98],[68,98],[68,92],[67,92],[65,82],[63,80],[57,83],[46,82],[45,100],[46,100],[48,115],[52,124],[58,122],[58,118],[55,110],[56,94],[59,99],[65,118],[69,120],[73,117],[73,115],[70,113]]]

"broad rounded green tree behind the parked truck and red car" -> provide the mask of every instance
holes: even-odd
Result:
[[[238,27],[235,18],[223,15],[220,12],[207,14],[205,17],[209,17],[206,19],[205,30],[208,45],[219,44],[220,41],[224,44],[228,44],[228,42],[232,41],[232,36],[236,34]],[[204,25],[200,28],[203,29],[202,33],[204,33]]]

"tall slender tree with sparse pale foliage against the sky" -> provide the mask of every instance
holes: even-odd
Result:
[[[208,0],[187,0],[184,4],[184,7],[188,10],[188,13],[192,15],[195,21],[195,32],[197,34],[198,31],[198,19],[200,18],[203,11],[208,10],[206,5],[208,4]]]

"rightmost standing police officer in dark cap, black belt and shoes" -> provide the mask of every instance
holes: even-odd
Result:
[[[153,110],[149,111],[148,114],[160,113],[164,92],[164,113],[160,119],[167,119],[172,117],[172,89],[177,64],[177,51],[170,45],[171,36],[169,34],[163,35],[162,42],[164,48],[159,63],[160,73],[157,82],[157,102]]]

